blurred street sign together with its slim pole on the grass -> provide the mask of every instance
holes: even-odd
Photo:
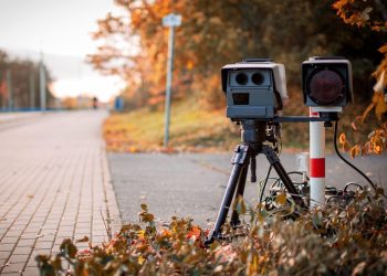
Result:
[[[165,132],[164,132],[164,147],[167,148],[168,140],[169,140],[170,97],[171,97],[171,83],[172,83],[172,71],[174,71],[174,36],[175,36],[175,26],[181,25],[181,15],[169,13],[168,15],[163,18],[163,25],[169,28],[166,102],[165,102]]]

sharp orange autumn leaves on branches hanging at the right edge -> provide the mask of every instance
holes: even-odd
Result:
[[[387,6],[379,0],[336,0],[333,8],[346,24],[355,25],[362,31],[372,30],[376,35],[384,38],[384,44],[379,45],[383,59],[372,74],[376,83],[373,87],[372,103],[365,108],[363,115],[355,117],[352,127],[353,130],[358,131],[359,128],[364,128],[364,125],[369,124],[370,121],[366,119],[373,109],[377,121],[372,125],[373,130],[367,134],[365,141],[355,141],[351,146],[345,134],[339,137],[343,149],[349,151],[353,158],[370,152],[381,153],[387,147]]]

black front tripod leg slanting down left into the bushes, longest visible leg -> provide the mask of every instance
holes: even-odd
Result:
[[[249,150],[249,147],[244,145],[238,146],[234,150],[234,155],[232,157],[233,167],[232,167],[231,176],[227,184],[222,202],[220,204],[220,209],[217,215],[217,220],[215,222],[213,230],[209,235],[208,240],[206,241],[206,244],[210,244],[213,242],[215,238],[221,237],[221,227],[226,222],[226,217],[229,212],[232,198],[236,193],[238,181],[241,178],[242,168],[244,166],[244,162],[248,160],[248,150]]]

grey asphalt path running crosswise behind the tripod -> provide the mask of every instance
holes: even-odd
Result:
[[[124,222],[138,222],[140,204],[146,203],[161,222],[172,215],[192,217],[201,225],[216,219],[232,166],[230,153],[108,153],[113,185]],[[296,169],[295,156],[284,153],[286,171]],[[352,160],[377,183],[387,188],[387,155]],[[258,157],[257,176],[269,168],[264,156]],[[347,182],[367,182],[336,156],[326,158],[326,185],[343,188]],[[275,176],[275,173],[272,173]],[[248,180],[245,200],[257,202],[258,183]]]

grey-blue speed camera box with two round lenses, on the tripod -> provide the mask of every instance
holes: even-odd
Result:
[[[221,68],[221,82],[231,120],[272,119],[287,99],[285,68],[268,59],[228,64]]]

